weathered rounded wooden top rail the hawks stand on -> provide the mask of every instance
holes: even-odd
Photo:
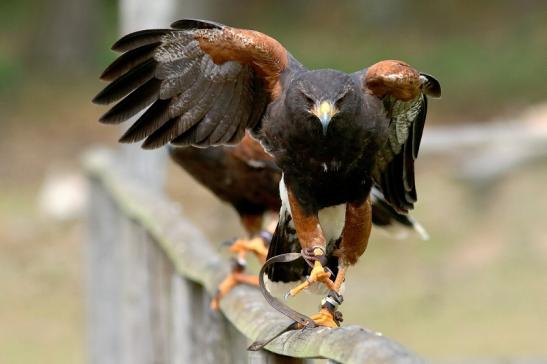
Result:
[[[85,166],[92,178],[100,182],[111,194],[123,214],[150,234],[174,270],[196,282],[196,286],[187,289],[192,297],[195,297],[190,302],[194,307],[191,310],[192,314],[202,320],[205,328],[208,328],[211,320],[222,320],[220,315],[215,315],[207,309],[208,294],[214,292],[217,284],[227,273],[228,265],[208,244],[203,234],[184,219],[180,209],[161,193],[148,190],[134,180],[126,178],[111,154],[95,153],[86,159]],[[221,310],[249,340],[268,337],[289,324],[285,316],[273,310],[260,292],[251,287],[236,287],[223,299]],[[180,317],[176,316],[173,318],[175,325],[179,319]],[[208,329],[204,332],[211,333]],[[224,333],[221,335],[230,336]],[[215,341],[215,335],[202,336],[201,339],[210,340],[208,348],[222,345],[220,341]],[[267,349],[291,357],[328,358],[342,363],[422,362],[394,341],[352,325],[340,329],[291,331],[270,343]],[[259,360],[260,356],[253,355],[255,354],[252,354],[249,360]],[[217,360],[225,362],[223,359]]]

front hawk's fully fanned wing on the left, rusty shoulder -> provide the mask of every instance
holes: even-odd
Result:
[[[100,121],[121,123],[150,106],[121,142],[145,139],[147,149],[239,142],[281,93],[288,52],[252,30],[201,20],[171,27],[131,33],[112,46],[124,53],[101,75],[111,82],[93,102],[121,101]]]

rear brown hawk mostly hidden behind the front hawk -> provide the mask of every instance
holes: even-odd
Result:
[[[238,283],[258,286],[257,276],[244,273],[245,255],[252,252],[261,263],[266,261],[267,246],[277,221],[263,229],[263,220],[267,213],[277,214],[281,207],[281,170],[248,135],[237,146],[170,147],[169,154],[177,165],[236,210],[247,234],[245,239],[236,239],[230,246],[230,252],[237,254],[237,258],[231,274],[220,283],[211,301],[211,308],[216,310],[220,299]]]

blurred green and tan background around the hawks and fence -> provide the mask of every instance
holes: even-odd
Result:
[[[199,14],[181,8],[172,20],[208,14],[260,30],[310,68],[350,72],[395,58],[435,75],[443,98],[430,104],[430,129],[499,120],[547,126],[545,1],[198,3]],[[52,217],[44,189],[56,180],[79,186],[80,153],[115,145],[118,129],[96,122],[104,110],[90,99],[115,57],[118,12],[107,0],[0,3],[2,364],[85,361],[85,228],[78,212]],[[474,154],[459,152],[424,153],[414,216],[431,240],[375,233],[348,278],[346,322],[435,361],[547,362],[546,159],[485,183],[462,178]],[[235,216],[224,218],[233,215],[227,207],[183,173],[171,176],[173,195],[213,241],[240,233]],[[205,224],[211,215],[213,226]]]

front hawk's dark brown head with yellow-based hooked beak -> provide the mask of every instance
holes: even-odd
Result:
[[[359,105],[359,87],[343,72],[305,72],[293,81],[292,86],[287,95],[291,100],[291,113],[320,125],[324,136],[334,120],[344,114],[353,114]]]

